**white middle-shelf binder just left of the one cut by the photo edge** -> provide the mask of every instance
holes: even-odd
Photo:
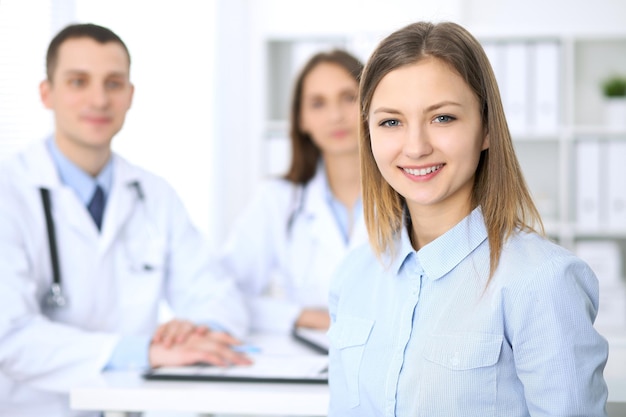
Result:
[[[600,226],[600,151],[597,140],[576,143],[576,222],[583,230]]]

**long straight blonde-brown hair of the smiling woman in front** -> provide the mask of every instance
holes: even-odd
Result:
[[[476,94],[489,148],[482,151],[472,189],[480,206],[490,246],[490,277],[498,266],[505,241],[516,230],[543,234],[543,224],[524,181],[509,132],[498,85],[482,46],[462,26],[417,22],[385,38],[365,66],[359,86],[360,157],[365,222],[371,245],[381,257],[394,252],[404,224],[405,203],[382,177],[372,154],[368,114],[380,80],[389,72],[432,57],[456,71]]]

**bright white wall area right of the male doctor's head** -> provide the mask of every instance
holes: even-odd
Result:
[[[166,178],[212,236],[216,2],[75,3],[78,21],[110,27],[131,53],[135,97],[114,149]]]

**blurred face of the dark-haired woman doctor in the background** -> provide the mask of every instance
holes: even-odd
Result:
[[[342,66],[322,62],[302,85],[300,129],[324,157],[358,153],[358,84]]]

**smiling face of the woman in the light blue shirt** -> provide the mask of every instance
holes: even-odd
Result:
[[[471,209],[480,153],[489,147],[479,107],[465,81],[436,58],[391,71],[376,87],[372,152],[412,217]]]

